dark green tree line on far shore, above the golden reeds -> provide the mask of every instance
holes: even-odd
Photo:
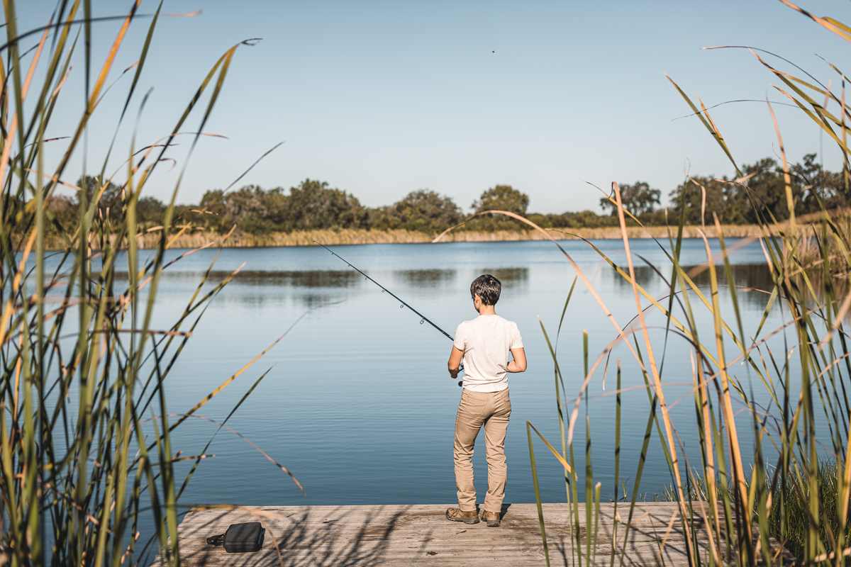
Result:
[[[668,195],[669,206],[660,207],[662,192],[648,183],[620,184],[624,207],[644,224],[677,224],[681,213],[688,224],[699,224],[701,212],[706,222],[713,213],[724,224],[753,224],[758,215],[765,219],[788,217],[783,170],[774,159],[766,158],[742,167],[740,179],[696,176],[677,185]],[[791,189],[797,214],[848,207],[851,192],[845,175],[825,170],[814,154],[791,165]],[[78,181],[82,193],[76,196],[54,196],[49,201],[49,218],[56,230],[78,214],[78,201],[91,201],[103,188],[98,215],[109,222],[122,214],[123,194],[114,184],[94,177]],[[528,211],[529,197],[511,185],[495,185],[471,203],[471,212],[500,209],[521,214],[545,228],[593,228],[616,226],[616,209],[603,197],[603,214],[594,211],[567,213],[534,213]],[[137,205],[137,218],[142,226],[161,222],[165,205],[154,197],[142,197]],[[236,226],[249,234],[292,230],[418,230],[437,233],[459,224],[468,216],[448,196],[420,189],[384,207],[365,207],[351,193],[330,187],[328,183],[305,179],[290,187],[263,189],[246,185],[238,190],[208,190],[197,204],[179,205],[175,218],[190,222],[204,230],[225,232]],[[517,221],[503,216],[473,218],[465,224],[469,230],[512,230]]]

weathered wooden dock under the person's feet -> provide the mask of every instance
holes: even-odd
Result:
[[[260,567],[371,567],[373,565],[543,565],[538,512],[534,504],[504,507],[502,525],[449,522],[447,506],[310,506],[236,507],[195,509],[180,524],[180,563],[185,566],[219,565]],[[574,541],[568,529],[568,506],[545,504],[544,518],[552,565],[576,564]],[[601,506],[591,564],[609,565],[613,526],[620,558],[629,503]],[[208,546],[206,538],[224,533],[229,524],[260,521],[266,541],[258,553],[226,553]],[[593,529],[593,527],[592,527]],[[580,507],[583,565],[587,536],[585,512]],[[698,529],[703,543],[705,533]],[[686,565],[683,530],[676,503],[642,502],[633,514],[625,565]]]

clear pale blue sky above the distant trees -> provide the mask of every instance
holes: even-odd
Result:
[[[816,14],[851,20],[847,2],[802,3]],[[98,15],[123,14],[130,2],[93,5]],[[43,23],[53,6],[49,0],[20,3],[20,28]],[[142,12],[156,7],[147,0]],[[229,139],[202,140],[180,202],[230,184],[282,140],[243,183],[289,187],[323,179],[371,206],[428,188],[462,207],[489,186],[508,183],[527,192],[530,209],[539,212],[596,209],[599,194],[585,182],[605,187],[641,179],[666,196],[686,172],[732,172],[695,118],[672,120],[688,108],[665,72],[707,105],[767,95],[780,100],[775,81],[745,50],[701,48],[766,48],[825,82],[836,76],[815,54],[843,66],[851,52],[841,38],[776,0],[166,0],[164,11],[197,9],[203,11],[197,17],[165,18],[157,28],[140,83],[140,94],[153,88],[140,141],[168,133],[226,48],[248,37],[263,41],[237,52],[207,128]],[[138,58],[146,30],[146,20],[134,23],[115,77]],[[95,31],[100,65],[117,24]],[[78,60],[49,135],[67,134],[77,122],[82,75]],[[117,83],[91,123],[88,162],[97,168],[129,79]],[[792,159],[819,151],[820,134],[808,118],[776,110]],[[712,116],[740,162],[776,153],[764,104],[725,105]],[[119,138],[124,156],[132,122]],[[826,137],[823,145],[825,165],[837,167],[838,152]],[[81,171],[82,154],[67,177]],[[182,164],[186,145],[172,156]],[[111,167],[121,159],[114,157]],[[157,174],[149,195],[170,195],[175,173]]]

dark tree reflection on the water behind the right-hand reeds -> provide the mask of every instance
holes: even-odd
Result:
[[[696,267],[697,266],[683,266],[683,270],[689,274]],[[625,266],[622,266],[622,268],[625,272],[629,271]],[[665,265],[664,267],[657,266],[657,268],[660,273],[665,276],[665,279],[671,278],[670,265]],[[737,288],[750,288],[751,290],[763,290],[770,292],[774,287],[774,281],[771,280],[771,274],[768,271],[768,266],[765,264],[731,264],[730,269],[733,273],[733,281]],[[717,265],[716,270],[718,286],[727,287],[727,272],[725,271],[723,264]],[[665,281],[662,280],[660,275],[648,265],[636,265],[635,272],[636,281],[640,286],[648,287],[651,285],[659,285],[667,287],[667,284],[665,284]],[[610,273],[617,286],[623,286],[631,289],[631,284],[621,277],[620,274],[615,272],[614,269],[612,269]],[[692,280],[694,280],[695,285],[701,288],[708,288],[710,286],[709,269],[704,269],[700,272],[700,274],[693,275]],[[680,285],[677,284],[677,291],[680,291],[680,289]],[[748,292],[744,289],[740,289],[739,291],[739,298],[748,303],[762,307],[768,301],[768,294],[766,293],[757,291]]]

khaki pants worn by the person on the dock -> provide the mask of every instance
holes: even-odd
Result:
[[[476,485],[473,483],[473,445],[484,426],[485,456],[488,460],[488,494],[483,508],[499,513],[505,497],[505,431],[511,416],[508,388],[499,392],[471,392],[464,389],[455,418],[455,487],[458,507],[476,510]]]

